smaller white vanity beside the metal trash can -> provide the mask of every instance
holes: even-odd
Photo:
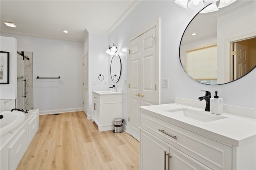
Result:
[[[122,92],[92,91],[92,121],[99,131],[113,130],[118,117],[122,117]]]

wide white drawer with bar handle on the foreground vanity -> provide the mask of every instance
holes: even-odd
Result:
[[[141,113],[141,128],[212,169],[232,168],[232,148],[222,143],[218,143],[143,112]]]

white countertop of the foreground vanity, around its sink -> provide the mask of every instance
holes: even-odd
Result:
[[[202,122],[166,111],[179,108],[204,111],[204,109],[198,107],[181,104],[142,106],[140,110],[174,125],[183,127],[184,129],[194,131],[199,135],[235,146],[243,145],[243,143],[246,143],[248,140],[255,140],[256,138],[255,119],[222,113],[221,115],[227,118]]]

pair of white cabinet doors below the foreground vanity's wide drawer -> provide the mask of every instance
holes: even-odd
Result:
[[[211,168],[142,129],[140,135],[140,169],[210,170]]]

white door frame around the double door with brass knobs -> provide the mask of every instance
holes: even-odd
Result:
[[[138,31],[135,35],[128,38],[128,50],[130,50],[130,41],[136,39],[140,35],[146,33],[150,29],[156,27],[156,97],[158,98],[157,103],[160,103],[160,18],[154,21],[146,28]],[[128,83],[130,84],[130,55],[128,54]],[[128,119],[130,117],[130,88],[128,87]],[[130,134],[130,121],[128,121],[127,132]]]

